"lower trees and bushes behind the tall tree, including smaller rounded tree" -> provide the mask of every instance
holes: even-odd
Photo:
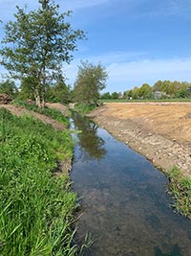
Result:
[[[98,105],[100,98],[99,91],[105,88],[107,72],[101,64],[94,65],[88,61],[82,61],[79,66],[74,89],[67,85],[64,80],[59,80],[54,84],[46,84],[44,99],[48,102],[59,102],[69,104],[70,102],[85,103],[87,105]],[[12,99],[35,100],[31,77],[21,81],[20,87],[14,81],[7,80],[0,82],[0,93],[6,93]]]

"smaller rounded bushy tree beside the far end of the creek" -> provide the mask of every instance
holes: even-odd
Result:
[[[97,104],[99,91],[106,87],[107,72],[101,64],[81,61],[74,82],[74,100],[79,103]]]

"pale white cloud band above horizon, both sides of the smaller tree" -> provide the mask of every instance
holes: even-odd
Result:
[[[127,53],[125,55],[127,56]],[[136,58],[137,55],[135,53]],[[108,59],[106,59],[106,55],[102,58],[99,57],[104,60],[101,63],[106,67],[109,75],[105,91],[123,92],[134,86],[140,86],[144,82],[153,85],[159,80],[191,81],[191,58],[153,59],[143,58],[142,55],[140,59],[124,61],[122,57],[116,58],[116,54],[108,55],[108,57]],[[87,59],[92,61],[96,57]],[[77,65],[79,64],[80,60],[75,59],[70,66],[64,68],[64,72],[69,79],[68,83],[74,83],[77,74]]]

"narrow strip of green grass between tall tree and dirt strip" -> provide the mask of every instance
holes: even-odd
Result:
[[[21,105],[21,106],[24,106],[25,108],[27,108],[28,110],[32,110],[32,111],[38,112],[40,114],[47,115],[49,117],[52,117],[56,121],[60,122],[61,124],[65,125],[66,127],[69,126],[68,119],[59,110],[56,110],[56,109],[53,109],[53,108],[50,108],[47,106],[45,106],[44,108],[39,108],[36,105],[31,105],[24,101],[18,101],[18,100],[14,101],[13,104]]]

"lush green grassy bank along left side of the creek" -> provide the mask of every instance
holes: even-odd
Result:
[[[75,255],[76,196],[53,175],[72,153],[68,131],[0,108],[0,255]]]

